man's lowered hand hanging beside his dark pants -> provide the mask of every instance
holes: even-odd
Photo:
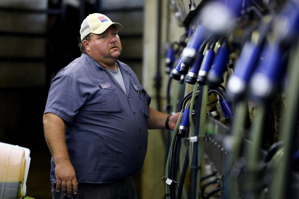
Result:
[[[76,179],[75,169],[69,160],[63,160],[55,164],[56,176],[56,191],[60,191],[60,185],[63,195],[72,195],[72,188],[74,194],[78,191],[78,182]]]

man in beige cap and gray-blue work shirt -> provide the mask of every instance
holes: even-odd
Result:
[[[117,60],[120,29],[100,13],[87,16],[81,57],[52,80],[43,123],[55,199],[135,198],[130,176],[144,162],[147,129],[175,128],[178,113],[151,109],[135,73]]]

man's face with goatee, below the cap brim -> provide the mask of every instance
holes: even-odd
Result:
[[[89,55],[98,63],[115,62],[121,54],[121,41],[111,25],[102,34],[93,34],[89,41]]]

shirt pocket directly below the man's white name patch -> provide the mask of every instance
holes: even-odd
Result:
[[[101,89],[101,103],[103,112],[122,112],[124,110],[116,88]]]

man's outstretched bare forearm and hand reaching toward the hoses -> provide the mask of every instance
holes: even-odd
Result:
[[[175,125],[178,121],[180,113],[176,113],[169,118],[168,126],[171,130],[174,130]],[[149,107],[149,118],[147,119],[148,129],[166,129],[165,122],[169,115],[161,113]]]

